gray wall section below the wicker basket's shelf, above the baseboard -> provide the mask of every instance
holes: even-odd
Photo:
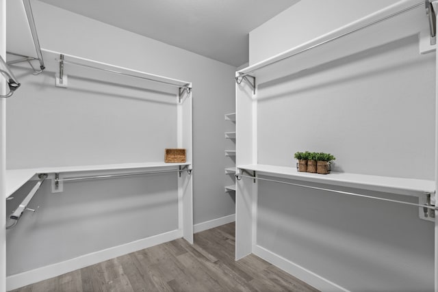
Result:
[[[7,214],[30,181],[8,201]],[[71,182],[51,193],[44,181],[6,239],[8,276],[178,229],[177,174]]]

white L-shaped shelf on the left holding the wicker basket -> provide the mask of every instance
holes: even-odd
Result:
[[[145,168],[169,168],[190,165],[191,163],[165,163],[165,162],[145,162],[145,163],[120,163],[103,165],[78,165],[62,167],[28,168],[21,170],[6,170],[6,198],[14,194],[14,191],[23,186],[29,179],[36,174],[51,173],[71,173],[71,172],[95,172],[108,170],[140,170]]]

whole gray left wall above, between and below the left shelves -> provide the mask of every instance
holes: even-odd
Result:
[[[218,178],[224,176],[223,122],[234,110],[235,68],[45,3],[32,4],[44,49],[192,82],[194,224],[233,214],[233,197],[224,195]],[[64,90],[54,88],[49,71],[34,77],[17,70],[23,90],[8,105],[8,168],[157,161],[175,141],[174,128],[160,129],[175,121],[173,105],[147,101],[157,98],[156,92],[75,77]],[[28,248],[32,259],[8,260],[8,275],[175,229],[176,181],[167,176],[68,184],[61,194],[50,193],[49,181],[44,185],[33,201],[40,202],[38,213],[25,215],[8,232],[8,258]],[[15,201],[8,202],[9,209]],[[90,207],[99,204],[96,217],[86,219]],[[70,235],[64,238],[67,230],[94,238],[72,244]],[[122,230],[126,236],[114,236]],[[25,231],[32,233],[30,240]]]

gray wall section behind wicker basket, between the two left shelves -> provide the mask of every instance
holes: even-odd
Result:
[[[53,67],[56,56],[44,56]],[[163,161],[177,148],[175,92],[72,67],[64,65],[68,88],[55,87],[53,71],[16,69],[23,85],[8,102],[8,169]]]

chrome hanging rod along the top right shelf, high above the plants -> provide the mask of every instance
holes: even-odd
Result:
[[[261,69],[261,68],[265,68],[265,67],[271,66],[271,65],[276,64],[276,63],[279,63],[279,62],[281,62],[281,61],[283,61],[283,60],[285,60],[285,59],[289,59],[290,57],[294,57],[294,56],[296,56],[296,55],[299,55],[300,53],[304,53],[304,52],[309,51],[309,50],[311,50],[311,49],[314,49],[314,48],[316,48],[316,47],[320,47],[322,44],[326,44],[326,43],[329,43],[329,42],[333,42],[333,40],[337,40],[338,38],[343,38],[344,36],[348,36],[348,35],[350,35],[350,34],[353,34],[353,33],[357,32],[357,31],[361,31],[362,29],[365,29],[365,28],[371,27],[372,25],[376,25],[376,24],[378,24],[378,23],[382,23],[382,22],[387,21],[388,19],[394,18],[394,17],[396,17],[396,16],[398,16],[398,15],[400,15],[400,14],[404,14],[404,13],[409,12],[409,11],[415,9],[415,8],[419,8],[420,6],[423,6],[423,7],[424,7],[424,1],[422,1],[422,2],[420,2],[420,3],[417,3],[417,4],[415,4],[415,5],[412,5],[412,6],[409,7],[409,8],[405,8],[404,10],[400,10],[399,12],[396,12],[396,13],[391,14],[391,15],[389,15],[389,16],[385,16],[385,17],[383,17],[383,18],[381,18],[381,19],[378,19],[378,20],[376,20],[376,21],[373,21],[372,23],[369,23],[368,25],[363,25],[362,27],[359,27],[359,28],[357,28],[357,29],[352,29],[351,31],[347,31],[347,32],[344,33],[344,34],[341,34],[341,35],[339,35],[339,36],[335,36],[335,37],[333,37],[333,38],[330,38],[329,40],[324,40],[324,41],[322,41],[322,42],[319,42],[318,44],[313,44],[313,46],[311,46],[311,47],[308,47],[308,48],[306,48],[306,49],[302,49],[301,51],[298,51],[298,52],[296,52],[296,53],[293,53],[292,55],[288,55],[288,56],[286,56],[286,57],[283,57],[283,58],[278,59],[278,60],[276,60],[276,61],[273,61],[273,62],[271,62],[271,63],[265,64],[265,65],[262,65],[262,66],[260,66],[260,67],[258,67],[258,68],[255,68],[254,70],[251,70],[251,71],[249,71],[249,72],[246,72],[246,73],[240,73],[240,75],[239,75],[238,77],[235,77],[235,78],[236,78],[236,81],[238,81],[238,79],[240,79],[240,78],[243,78],[243,77],[245,77],[245,76],[247,76],[247,75],[250,75],[251,73],[253,73],[253,72],[255,72],[255,71],[257,71],[257,70],[259,70],[259,69]]]

